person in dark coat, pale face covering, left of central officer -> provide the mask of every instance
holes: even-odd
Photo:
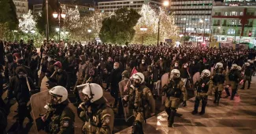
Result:
[[[111,83],[111,91],[110,94],[115,99],[113,104],[113,108],[117,107],[118,96],[119,96],[119,82],[122,80],[121,69],[119,68],[119,63],[115,62],[113,64],[113,71],[110,74],[110,83]],[[121,104],[119,104],[121,105]]]

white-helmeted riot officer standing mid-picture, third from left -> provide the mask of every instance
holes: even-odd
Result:
[[[142,73],[132,74],[132,85],[129,90],[129,105],[133,107],[135,121],[132,134],[143,134],[143,121],[153,116],[155,112],[155,101],[152,92],[144,83],[145,77]]]

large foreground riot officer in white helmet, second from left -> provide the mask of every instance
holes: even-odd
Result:
[[[80,90],[80,87],[83,89]],[[77,88],[83,101],[79,106],[83,110],[80,112],[80,118],[85,121],[83,133],[112,134],[114,114],[112,108],[106,104],[102,87],[95,83],[87,83]]]

